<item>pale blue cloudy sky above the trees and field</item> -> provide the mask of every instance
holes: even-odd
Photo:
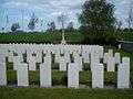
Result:
[[[35,31],[44,31],[48,29],[48,23],[54,21],[58,28],[61,28],[58,22],[58,16],[62,13],[66,15],[65,26],[69,22],[74,23],[74,28],[79,28],[78,14],[82,11],[82,6],[85,0],[0,0],[0,31],[6,28],[10,31],[11,24],[19,22],[21,29],[28,31],[28,23],[32,15],[43,20],[43,25],[38,23]],[[110,0],[115,6],[115,13],[117,20],[123,22],[126,26],[125,19],[130,11],[129,7],[133,0]],[[8,19],[8,20],[7,20]],[[23,21],[22,21],[23,19]]]

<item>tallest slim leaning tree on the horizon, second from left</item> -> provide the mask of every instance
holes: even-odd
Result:
[[[38,23],[38,18],[32,13],[32,16],[30,19],[30,22],[28,24],[29,30],[33,31],[35,29],[35,24]]]

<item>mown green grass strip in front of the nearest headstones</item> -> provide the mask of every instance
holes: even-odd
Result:
[[[133,89],[0,87],[0,99],[133,99]]]

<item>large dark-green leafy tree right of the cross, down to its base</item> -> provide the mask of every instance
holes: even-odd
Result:
[[[80,32],[84,43],[114,45],[115,29],[114,6],[106,0],[86,0],[79,15]]]

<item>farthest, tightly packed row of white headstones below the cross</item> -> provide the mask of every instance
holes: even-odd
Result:
[[[65,51],[68,51],[69,54],[72,54],[73,52],[76,52],[81,54],[82,52],[85,53],[100,53],[100,51],[103,51],[102,46],[99,45],[45,45],[45,44],[0,44],[1,48],[7,48],[9,52],[14,53],[38,53],[38,52],[51,52],[55,54],[59,52],[60,54],[64,54]],[[100,53],[101,54],[101,53]]]

